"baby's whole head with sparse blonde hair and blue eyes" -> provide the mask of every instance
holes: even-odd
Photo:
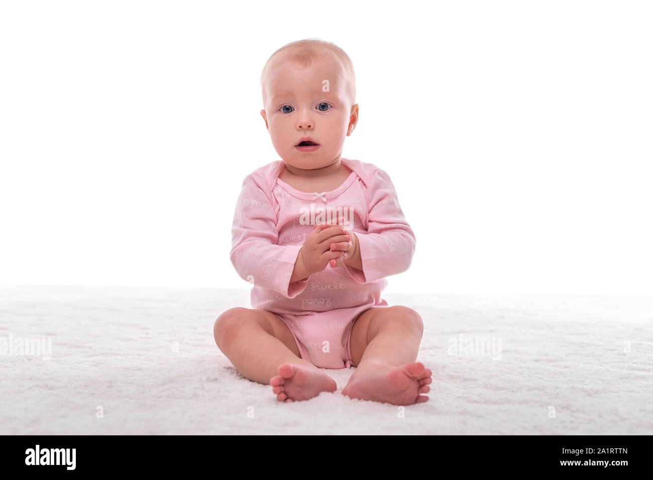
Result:
[[[261,115],[279,157],[305,170],[339,162],[358,122],[355,82],[351,59],[331,42],[298,40],[272,53],[261,72]],[[319,147],[297,148],[306,137]]]

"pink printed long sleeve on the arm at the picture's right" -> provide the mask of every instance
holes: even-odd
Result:
[[[355,232],[362,271],[345,265],[349,275],[359,284],[406,271],[417,245],[394,185],[384,170],[378,169],[372,174],[367,192],[370,197],[367,233]]]

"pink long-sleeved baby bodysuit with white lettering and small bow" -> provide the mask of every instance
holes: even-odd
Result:
[[[388,174],[371,163],[340,160],[351,173],[330,192],[300,192],[281,181],[283,160],[250,173],[232,226],[231,262],[254,284],[252,308],[279,316],[302,359],[321,368],[351,367],[353,323],[369,308],[389,307],[381,299],[384,277],[406,271],[415,252],[415,233]],[[327,265],[289,284],[306,235],[338,216],[353,224],[362,271]]]

